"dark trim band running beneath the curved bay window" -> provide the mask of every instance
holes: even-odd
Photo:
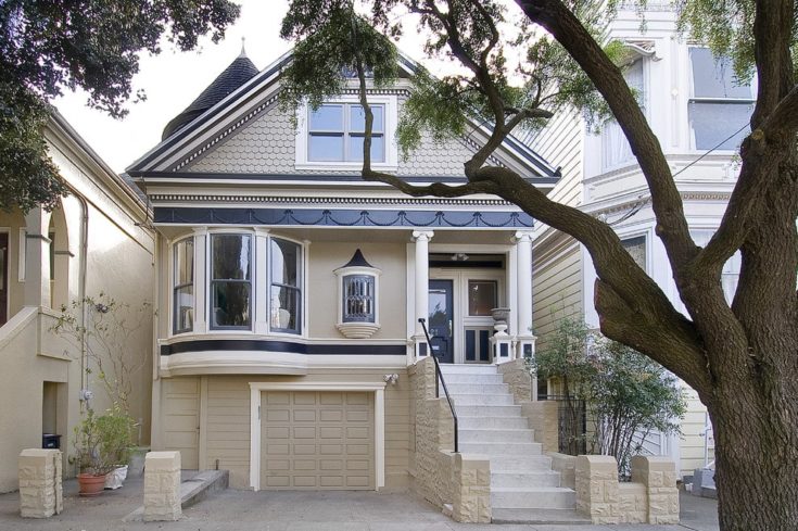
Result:
[[[252,351],[252,352],[283,352],[287,354],[319,355],[372,355],[372,356],[404,356],[407,353],[405,345],[376,345],[376,344],[304,344],[291,341],[269,341],[256,339],[200,339],[185,341],[170,345],[161,345],[161,355],[185,354],[206,351]]]

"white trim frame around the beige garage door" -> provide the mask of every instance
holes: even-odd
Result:
[[[261,397],[264,391],[375,393],[375,489],[385,486],[385,382],[250,382],[250,486],[261,490]]]

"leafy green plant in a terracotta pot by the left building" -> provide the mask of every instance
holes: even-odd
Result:
[[[118,407],[98,416],[88,408],[75,427],[75,457],[81,496],[97,496],[105,488],[106,477],[125,465],[131,443],[132,419]],[[121,484],[119,484],[121,486]]]

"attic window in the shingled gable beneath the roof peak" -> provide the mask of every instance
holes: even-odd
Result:
[[[371,105],[371,162],[385,162],[384,105]],[[309,111],[307,159],[311,162],[360,162],[366,113],[355,103],[325,103]]]

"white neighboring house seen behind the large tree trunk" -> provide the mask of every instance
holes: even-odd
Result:
[[[696,243],[705,244],[720,225],[737,167],[736,147],[747,134],[756,89],[736,86],[731,65],[717,63],[710,51],[675,30],[675,12],[649,3],[645,30],[634,10],[621,10],[609,36],[626,43],[624,75],[637,89],[641,104],[682,193]],[[734,135],[736,132],[736,135]],[[729,138],[732,137],[732,138]],[[562,203],[609,223],[677,308],[679,299],[661,241],[655,235],[649,191],[629,143],[616,123],[593,134],[578,114],[561,113],[531,146],[554,165],[562,179],[549,194]],[[707,154],[708,151],[711,151]],[[545,347],[559,318],[583,317],[598,327],[593,306],[596,274],[591,257],[575,240],[539,225],[533,243],[534,323],[539,350]],[[724,269],[731,300],[739,260]],[[685,385],[688,412],[683,437],[651,441],[647,448],[671,455],[682,473],[705,465],[706,408]],[[708,443],[711,460],[711,441]]]

